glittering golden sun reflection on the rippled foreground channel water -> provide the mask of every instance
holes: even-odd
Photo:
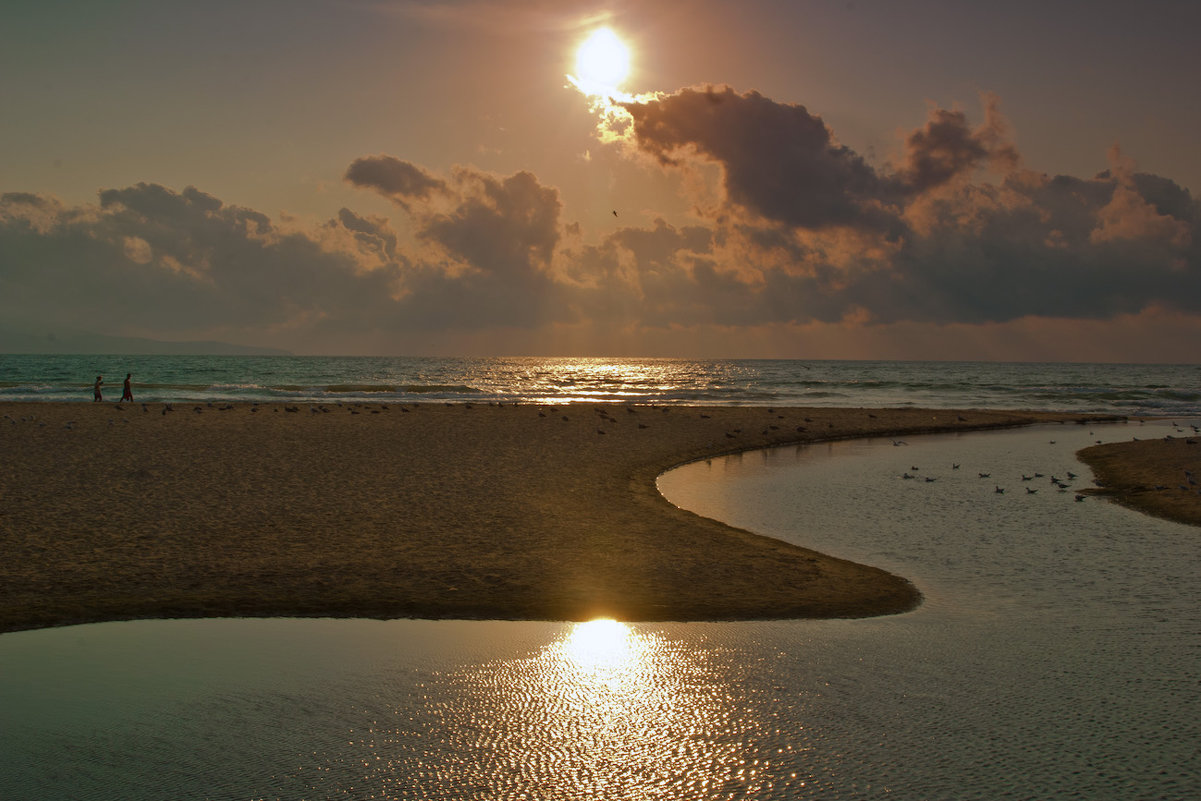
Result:
[[[653,629],[576,623],[526,657],[448,679],[454,700],[430,712],[458,759],[448,765],[440,754],[418,773],[437,766],[436,784],[478,790],[466,796],[667,799],[763,789],[764,766],[745,761],[757,716],[713,675],[704,651]]]

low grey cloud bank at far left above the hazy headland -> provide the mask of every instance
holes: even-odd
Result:
[[[138,184],[82,208],[0,198],[0,310],[26,325],[261,341],[378,306],[394,280],[192,187]]]

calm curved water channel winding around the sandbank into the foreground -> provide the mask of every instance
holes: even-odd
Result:
[[[1086,444],[1167,431],[827,443],[661,478],[910,578],[925,603],[892,617],[5,634],[0,797],[1199,797],[1201,532],[1050,483],[1088,484]]]

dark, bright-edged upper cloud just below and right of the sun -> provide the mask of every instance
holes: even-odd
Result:
[[[729,86],[617,103],[632,126],[615,138],[667,168],[717,166],[728,208],[763,220],[895,233],[908,197],[970,178],[985,165],[1002,172],[1018,166],[998,98],[984,101],[985,122],[974,130],[961,110],[931,109],[926,125],[906,138],[896,172],[879,171],[839,144],[803,106]]]

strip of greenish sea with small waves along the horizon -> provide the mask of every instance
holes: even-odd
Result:
[[[623,402],[1201,413],[1201,365],[0,354],[0,401]]]

